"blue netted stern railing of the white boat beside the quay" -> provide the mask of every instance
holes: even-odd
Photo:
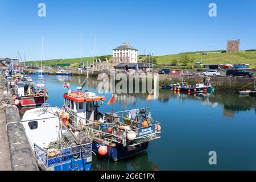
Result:
[[[67,147],[61,149],[50,148],[48,150],[34,144],[35,155],[46,167],[57,166],[67,163],[71,159],[83,159],[92,156],[92,143],[81,146]]]

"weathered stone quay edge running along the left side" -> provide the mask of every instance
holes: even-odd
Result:
[[[3,98],[14,104],[8,88],[5,75],[0,72],[1,82],[3,86]],[[13,171],[38,171],[38,165],[32,153],[30,143],[28,142],[27,135],[24,127],[20,121],[18,110],[13,106],[2,107],[5,112],[5,127],[7,130],[7,137],[9,142],[10,164]],[[3,170],[9,170],[8,168]]]

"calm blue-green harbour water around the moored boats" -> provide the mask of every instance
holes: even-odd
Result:
[[[32,76],[33,81],[40,76]],[[69,82],[74,91],[85,77],[46,76],[47,103],[63,105]],[[96,79],[89,90],[97,92]],[[99,94],[99,93],[98,93]],[[106,104],[102,113],[112,110]],[[115,111],[147,107],[147,94],[119,95]],[[152,118],[161,122],[160,139],[150,142],[143,154],[119,162],[94,156],[92,170],[256,170],[256,98],[238,94],[174,94],[159,90],[158,100],[150,101]],[[209,165],[209,151],[217,152],[217,165]]]

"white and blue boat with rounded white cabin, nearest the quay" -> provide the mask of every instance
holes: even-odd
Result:
[[[92,141],[84,133],[73,135],[66,126],[68,113],[43,104],[27,110],[21,121],[40,169],[89,171]]]

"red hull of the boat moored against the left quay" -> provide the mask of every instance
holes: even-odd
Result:
[[[44,104],[44,97],[23,96],[19,100],[20,107],[34,107]]]

